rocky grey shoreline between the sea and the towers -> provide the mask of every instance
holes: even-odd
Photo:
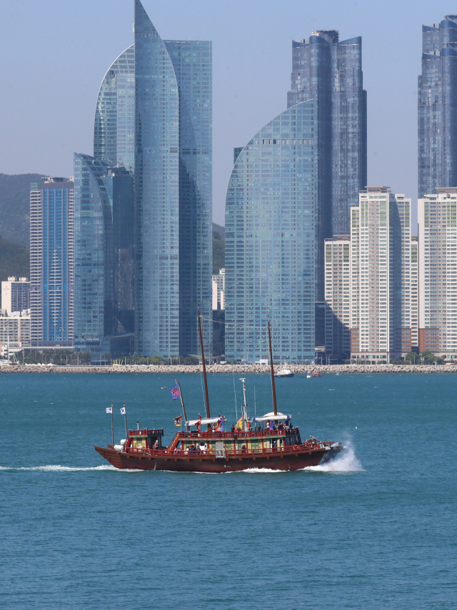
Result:
[[[350,373],[448,373],[457,372],[456,365],[288,365],[296,375],[304,375],[308,371],[320,372],[323,375],[335,375]],[[278,372],[282,365],[275,365],[275,372]],[[270,374],[268,365],[207,365],[206,372],[209,374]],[[3,365],[0,366],[0,373],[104,373],[105,375],[128,375],[134,373],[161,373],[177,375],[183,373],[201,373],[200,365],[116,365],[116,366],[34,366],[34,365]]]

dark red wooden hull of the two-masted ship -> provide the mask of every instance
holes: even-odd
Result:
[[[238,454],[233,457],[216,458],[214,455],[185,457],[154,457],[148,454],[129,454],[114,449],[95,447],[95,450],[116,468],[136,470],[169,470],[173,472],[236,472],[251,468],[271,470],[299,470],[317,466],[333,459],[343,447],[334,449],[298,449],[294,452],[271,452],[269,454]]]

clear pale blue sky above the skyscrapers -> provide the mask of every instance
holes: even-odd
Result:
[[[291,42],[316,29],[362,36],[368,184],[417,198],[421,26],[448,1],[144,0],[162,39],[213,41],[213,219],[224,224],[233,148],[287,108]],[[0,173],[73,175],[93,153],[94,110],[134,39],[133,0],[0,0]]]

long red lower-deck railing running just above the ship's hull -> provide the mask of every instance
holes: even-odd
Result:
[[[286,445],[284,447],[259,447],[258,449],[230,449],[229,447],[225,448],[226,457],[242,457],[243,455],[271,455],[271,454],[288,454],[295,453],[297,451],[311,451],[316,449],[324,449],[324,447],[328,447],[330,443],[323,442],[321,443],[302,443],[302,444],[291,444]],[[126,453],[133,455],[146,455],[151,457],[216,457],[216,451],[207,449],[206,451],[201,451],[200,449],[196,449],[195,451],[189,451],[189,449],[136,449],[134,447],[129,447],[126,449]]]

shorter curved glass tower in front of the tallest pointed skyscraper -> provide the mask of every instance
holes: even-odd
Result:
[[[76,351],[131,352],[134,333],[134,185],[124,167],[74,156]],[[130,340],[129,340],[130,338]]]

